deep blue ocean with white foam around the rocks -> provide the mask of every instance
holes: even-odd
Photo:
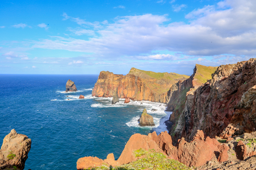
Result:
[[[0,146],[15,129],[32,139],[25,169],[76,170],[85,156],[117,159],[134,133],[147,135],[166,130],[171,112],[153,102],[91,97],[98,75],[0,75]],[[75,82],[77,92],[65,93],[66,82]],[[79,95],[85,99],[78,99]],[[68,96],[68,97],[67,97]],[[69,99],[69,100],[68,100]],[[146,108],[156,126],[140,127],[138,118]],[[156,112],[150,110],[157,109]]]

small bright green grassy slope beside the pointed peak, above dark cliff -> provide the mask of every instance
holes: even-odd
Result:
[[[203,66],[196,64],[197,72],[195,74],[195,79],[197,79],[197,82],[199,84],[204,84],[207,82],[207,79],[212,79],[212,73],[215,72],[215,70],[218,67],[212,67],[212,66]]]

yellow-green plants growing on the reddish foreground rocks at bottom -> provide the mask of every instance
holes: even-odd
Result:
[[[133,153],[135,157],[140,157],[140,159],[115,168],[101,166],[91,170],[191,170],[176,160],[166,158],[163,153],[155,152],[154,149],[150,151],[138,149]]]

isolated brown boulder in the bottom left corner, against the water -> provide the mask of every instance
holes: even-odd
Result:
[[[15,129],[6,135],[0,150],[0,169],[17,168],[23,170],[31,148],[31,139],[26,135],[17,134]]]

